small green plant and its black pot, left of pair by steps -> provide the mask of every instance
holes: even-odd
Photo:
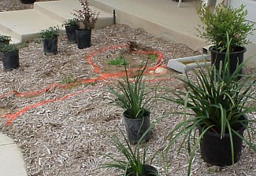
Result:
[[[58,35],[60,34],[58,26],[48,27],[40,31],[39,35],[43,38],[43,53],[46,56],[58,53]]]

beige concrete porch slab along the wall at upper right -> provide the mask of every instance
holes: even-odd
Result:
[[[184,43],[191,49],[201,50],[206,39],[198,38],[197,24],[201,24],[195,13],[195,3],[187,1],[182,8],[171,0],[88,0],[92,6],[108,13],[116,11],[117,24],[143,27],[150,34],[172,42]]]

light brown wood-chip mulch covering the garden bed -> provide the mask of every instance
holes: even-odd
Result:
[[[0,11],[12,10],[10,2],[0,0]],[[32,8],[14,2],[17,3],[15,9]],[[131,48],[131,42],[136,46]],[[106,49],[117,45],[127,47]],[[95,73],[88,63],[88,57],[100,49],[106,50],[92,57],[92,61],[100,68],[100,72]],[[118,127],[124,131],[122,110],[106,99],[111,97],[106,86],[114,86],[119,78],[102,79],[95,83],[87,83],[87,80],[106,73],[106,62],[120,54],[134,57],[135,63],[139,64],[145,56],[131,53],[131,49],[160,51],[163,54],[163,65],[172,58],[199,54],[184,44],[154,38],[141,28],[113,25],[92,31],[92,46],[87,49],[77,49],[76,44],[69,44],[62,34],[58,40],[57,55],[44,56],[42,44],[35,39],[20,49],[20,68],[5,72],[0,62],[0,116],[13,115],[9,116],[13,118],[10,124],[7,124],[9,118],[0,119],[0,131],[19,145],[29,175],[121,174],[117,170],[99,168],[108,161],[104,154],[121,157],[109,142],[109,136],[117,135],[121,138]],[[154,63],[150,66],[154,67]],[[107,72],[110,72],[109,69]],[[245,68],[245,72],[255,70]],[[149,87],[183,89],[184,85],[175,79],[177,75],[167,70],[165,74],[149,74],[145,78],[149,80]],[[65,83],[73,84],[64,87]],[[39,90],[42,93],[35,94]],[[163,90],[157,93],[166,94]],[[176,105],[168,101],[155,101],[150,108],[150,119],[155,122],[159,117],[176,110]],[[183,118],[177,115],[166,116],[156,124],[147,142],[147,160],[165,148],[165,137],[169,130]],[[255,141],[255,135],[252,140]],[[180,155],[177,155],[177,145],[174,144],[170,149],[167,162],[161,159],[161,154],[156,155],[152,162],[163,176],[187,173],[187,153],[182,149]],[[192,175],[256,175],[255,156],[255,152],[244,146],[241,159],[234,166],[213,167],[202,161],[198,151],[191,169]]]

